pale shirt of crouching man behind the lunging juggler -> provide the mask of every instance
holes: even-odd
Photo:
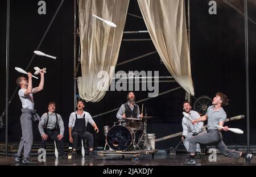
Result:
[[[188,114],[192,117],[192,120],[195,120],[195,119],[198,119],[201,117],[198,112],[193,111],[193,110],[191,110]],[[203,128],[204,122],[199,122],[199,123],[197,123],[197,125],[200,128],[198,128],[196,125],[192,124],[191,121],[188,120],[187,118],[183,117],[183,119],[182,119],[182,128],[183,128],[182,135],[187,137],[189,132],[200,133],[201,129]]]

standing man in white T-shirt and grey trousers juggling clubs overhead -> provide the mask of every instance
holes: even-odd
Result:
[[[30,153],[33,144],[33,131],[32,120],[40,120],[36,110],[34,109],[33,94],[43,90],[44,87],[44,72],[40,71],[41,79],[38,87],[32,87],[32,74],[27,73],[28,79],[24,77],[18,77],[16,83],[20,86],[18,92],[20,101],[22,102],[22,115],[20,116],[20,124],[22,128],[22,137],[19,142],[18,157],[15,158],[15,162],[35,165],[36,163],[30,161]],[[22,149],[24,147],[24,158],[22,159]]]

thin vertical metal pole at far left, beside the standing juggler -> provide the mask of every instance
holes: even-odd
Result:
[[[5,155],[8,155],[8,99],[9,99],[9,32],[10,32],[10,0],[7,0],[6,17],[6,90],[5,90]]]

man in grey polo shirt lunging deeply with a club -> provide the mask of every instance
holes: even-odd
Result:
[[[217,92],[216,96],[213,98],[213,106],[208,107],[207,113],[192,121],[193,124],[196,124],[200,121],[205,121],[208,119],[208,129],[207,132],[199,133],[197,136],[192,137],[189,142],[189,159],[188,165],[195,165],[195,152],[196,144],[215,144],[223,155],[226,157],[240,158],[243,157],[246,159],[246,164],[249,164],[253,158],[252,154],[245,154],[240,151],[228,150],[224,142],[222,141],[221,131],[228,131],[228,126],[224,128],[217,128],[216,125],[223,126],[226,120],[226,112],[222,108],[223,106],[228,105],[228,97],[221,92]]]

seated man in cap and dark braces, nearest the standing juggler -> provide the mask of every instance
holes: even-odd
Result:
[[[38,124],[39,132],[42,136],[41,148],[46,149],[46,141],[51,138],[59,143],[59,158],[67,159],[68,155],[64,153],[64,123],[59,114],[55,112],[56,104],[54,102],[48,103],[48,112],[44,113],[41,121]],[[57,125],[60,127],[60,133],[57,132]]]

